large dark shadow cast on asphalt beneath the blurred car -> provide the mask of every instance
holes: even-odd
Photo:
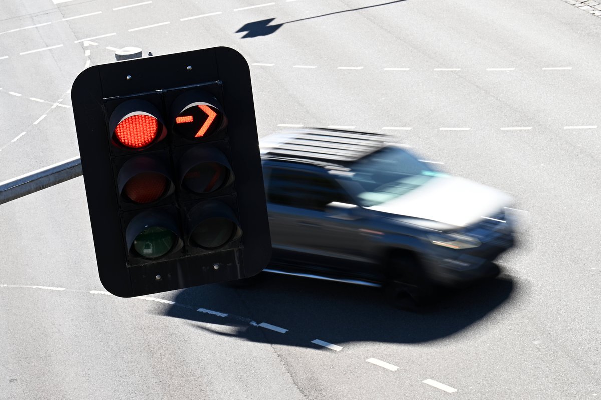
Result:
[[[392,308],[382,290],[265,274],[250,288],[207,285],[183,290],[176,305],[160,315],[189,320],[194,329],[215,335],[269,344],[317,348],[314,339],[339,345],[415,344],[468,329],[507,302],[513,290],[513,279],[501,275],[447,291],[428,312],[416,314]]]

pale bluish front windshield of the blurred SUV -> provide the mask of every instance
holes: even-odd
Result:
[[[376,206],[403,196],[435,176],[445,176],[395,146],[383,148],[350,166],[350,181],[361,187],[359,203]]]

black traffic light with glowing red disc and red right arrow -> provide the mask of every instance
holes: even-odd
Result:
[[[226,47],[98,65],[72,88],[100,281],[120,297],[256,275],[271,240],[248,64]]]

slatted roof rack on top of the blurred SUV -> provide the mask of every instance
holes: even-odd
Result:
[[[274,135],[273,140],[261,143],[261,155],[272,160],[340,165],[382,149],[389,137],[381,133],[305,128]]]

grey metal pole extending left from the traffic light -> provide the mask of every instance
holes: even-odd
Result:
[[[0,183],[0,204],[81,176],[79,157]]]

